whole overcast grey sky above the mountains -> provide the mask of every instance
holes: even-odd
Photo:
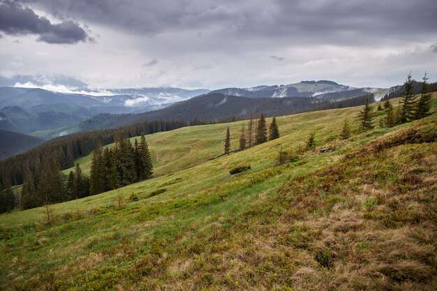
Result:
[[[425,70],[437,80],[436,0],[0,0],[0,77],[47,86],[390,87]]]

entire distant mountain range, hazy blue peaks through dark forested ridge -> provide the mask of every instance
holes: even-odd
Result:
[[[8,86],[0,87],[0,129],[50,139],[80,130],[119,126],[141,119],[171,117],[212,120],[232,115],[242,116],[243,110],[250,111],[260,106],[274,108],[282,103],[295,107],[292,110],[290,106],[285,106],[283,110],[287,113],[298,111],[297,100],[279,101],[272,98],[312,97],[312,102],[317,103],[353,98],[369,92],[375,93],[378,100],[379,95],[376,92],[382,90],[383,94],[387,93],[387,89],[355,88],[329,80],[210,91],[175,87],[95,90],[89,89],[84,82],[63,75],[50,79],[52,87],[49,88],[70,88],[68,93],[41,89],[47,88],[44,82],[47,82],[47,77],[44,76],[17,76],[15,79],[0,77],[0,85]],[[211,96],[205,100],[198,98],[206,95]],[[232,102],[218,107],[219,102],[224,104],[229,100],[225,96],[232,96]],[[216,98],[221,100],[216,103]],[[255,100],[259,98],[263,100]],[[181,110],[180,103],[184,103],[182,107],[185,109],[175,113],[177,108]],[[216,106],[214,110],[211,110],[209,104]],[[172,107],[175,105],[178,107]],[[162,111],[166,107],[169,109]],[[194,111],[201,112],[203,109],[205,114],[193,114]],[[280,111],[273,110],[272,114],[279,114]]]

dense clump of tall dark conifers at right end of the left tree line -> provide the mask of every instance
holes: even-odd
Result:
[[[151,178],[153,165],[145,136],[134,144],[127,137],[117,137],[111,148],[100,147],[91,161],[89,192],[91,195],[120,188]]]

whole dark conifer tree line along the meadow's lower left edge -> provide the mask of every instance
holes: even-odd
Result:
[[[38,172],[24,171],[20,205],[23,209],[59,203],[96,195],[115,188],[151,178],[153,165],[145,135],[140,142],[125,136],[116,136],[112,147],[98,147],[91,161],[89,177],[82,173],[79,164],[68,175],[61,172],[59,163],[51,157],[43,161]],[[1,212],[15,207],[15,195],[7,185],[1,195]]]

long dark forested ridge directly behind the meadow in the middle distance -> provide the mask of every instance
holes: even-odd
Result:
[[[145,120],[230,121],[249,119],[251,113],[259,116],[281,116],[298,112],[308,112],[332,107],[348,107],[364,104],[365,97],[357,96],[343,101],[344,104],[330,103],[309,97],[247,98],[211,93],[185,100],[161,110],[139,114],[99,114],[80,124],[82,130],[111,128],[134,124]]]

